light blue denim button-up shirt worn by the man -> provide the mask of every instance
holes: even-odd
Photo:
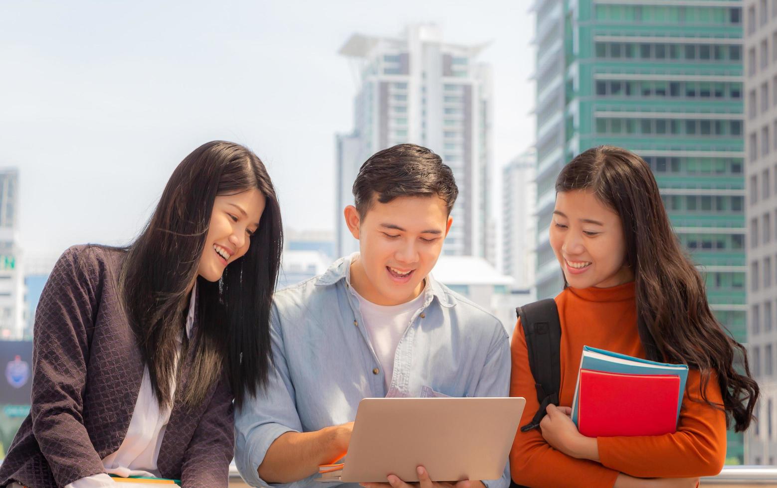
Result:
[[[441,396],[507,396],[510,344],[504,327],[431,275],[423,308],[396,348],[387,391],[351,291],[350,260],[340,258],[323,275],[275,294],[270,381],[235,412],[235,463],[250,485],[267,485],[256,469],[280,434],[353,421],[364,398],[429,396],[430,389]],[[274,486],[320,488],[315,476]],[[508,463],[502,478],[487,485],[505,488],[509,480]]]

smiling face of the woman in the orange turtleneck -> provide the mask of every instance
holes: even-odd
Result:
[[[608,288],[634,279],[618,213],[585,190],[559,192],[550,245],[573,288]]]

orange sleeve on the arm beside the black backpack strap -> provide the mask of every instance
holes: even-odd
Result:
[[[521,321],[515,326],[512,351],[512,373],[510,375],[510,396],[523,396],[526,408],[521,417],[521,426],[528,424],[539,408],[534,376],[529,368],[526,339]],[[542,486],[543,488],[580,486],[613,486],[618,471],[605,468],[598,462],[575,459],[550,447],[537,429],[521,432],[518,429],[510,449],[510,474],[519,485]]]

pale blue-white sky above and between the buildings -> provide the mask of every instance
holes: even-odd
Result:
[[[214,139],[263,159],[286,227],[332,229],[334,134],[351,129],[356,91],[337,51],[351,33],[395,36],[409,22],[492,41],[481,59],[493,65],[498,178],[534,140],[528,6],[5,0],[0,167],[20,171],[24,251],[129,241],[176,164]]]

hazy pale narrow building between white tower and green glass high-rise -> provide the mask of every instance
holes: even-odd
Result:
[[[502,272],[514,289],[531,289],[535,281],[536,159],[531,148],[502,169]]]

